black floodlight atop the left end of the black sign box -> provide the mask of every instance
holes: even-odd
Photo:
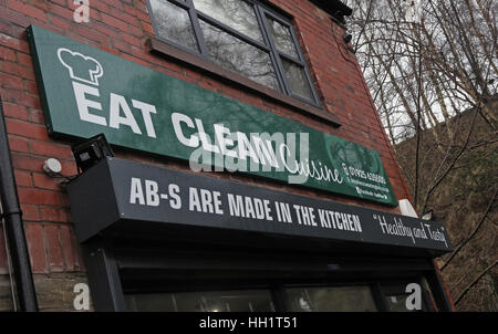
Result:
[[[77,173],[83,173],[105,157],[113,157],[114,153],[104,134],[98,134],[71,146],[76,160]]]

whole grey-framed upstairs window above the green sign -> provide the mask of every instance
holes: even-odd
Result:
[[[319,105],[291,21],[256,1],[148,0],[156,38]]]

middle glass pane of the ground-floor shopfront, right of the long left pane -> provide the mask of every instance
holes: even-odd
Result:
[[[369,286],[286,289],[290,311],[377,311]]]

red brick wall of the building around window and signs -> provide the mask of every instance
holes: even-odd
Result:
[[[73,21],[72,0],[0,0],[1,98],[35,273],[82,271],[83,263],[74,239],[64,188],[59,185],[59,180],[46,177],[42,170],[43,160],[48,157],[60,159],[65,175],[75,174],[76,169],[69,148],[70,143],[54,140],[46,135],[25,34],[25,29],[31,23],[373,148],[382,157],[396,197],[409,198],[360,66],[354,55],[344,48],[342,41],[344,30],[310,1],[272,0],[271,2],[295,18],[294,28],[317,88],[326,109],[335,114],[343,124],[340,128],[309,118],[257,94],[235,90],[226,83],[168,62],[164,58],[152,55],[144,46],[147,35],[153,35],[145,0],[90,0],[90,23]],[[153,160],[146,155],[126,152],[117,152],[117,155],[162,166],[188,168],[187,164],[173,165]],[[253,182],[249,177],[243,176],[220,174],[215,176]],[[381,210],[397,210],[271,181],[258,181],[258,185]],[[2,258],[4,254],[0,251],[0,273],[6,271],[6,261]]]

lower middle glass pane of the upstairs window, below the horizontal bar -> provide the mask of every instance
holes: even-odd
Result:
[[[279,90],[270,55],[211,24],[199,20],[211,59],[227,70],[240,73],[260,84]]]

